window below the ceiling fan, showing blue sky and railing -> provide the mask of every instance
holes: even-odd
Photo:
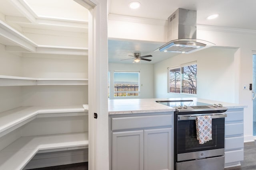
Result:
[[[114,71],[114,97],[139,96],[140,72]]]

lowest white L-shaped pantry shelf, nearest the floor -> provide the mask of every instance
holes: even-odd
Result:
[[[0,170],[22,170],[37,152],[88,148],[88,133],[20,137],[0,151]]]

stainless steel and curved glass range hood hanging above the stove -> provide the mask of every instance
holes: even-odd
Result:
[[[155,51],[174,53],[192,53],[206,46],[215,45],[208,41],[196,39],[196,11],[178,8],[170,17],[167,25],[168,43]]]

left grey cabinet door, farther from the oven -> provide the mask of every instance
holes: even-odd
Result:
[[[143,170],[143,130],[112,133],[112,170]]]

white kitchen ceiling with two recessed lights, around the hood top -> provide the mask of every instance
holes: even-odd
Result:
[[[138,10],[128,7],[138,1]],[[256,30],[256,0],[110,0],[109,13],[167,20],[178,8],[197,11],[197,24]],[[207,20],[218,13],[216,20]]]

